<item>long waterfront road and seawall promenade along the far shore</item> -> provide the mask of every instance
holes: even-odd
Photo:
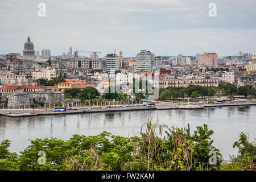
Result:
[[[204,107],[223,107],[223,106],[249,106],[256,105],[255,101],[232,101],[224,104],[207,104],[206,102],[193,103],[176,103],[176,102],[161,102],[156,103],[155,107],[147,107],[143,104],[135,105],[108,105],[108,106],[77,106],[71,107],[67,111],[52,111],[49,108],[37,109],[0,109],[0,115],[7,117],[28,117],[34,115],[59,115],[59,114],[80,114],[80,113],[98,113],[98,112],[113,112],[113,111],[134,111],[134,110],[162,110],[162,109],[204,109]],[[20,114],[15,114],[20,111]],[[7,114],[9,113],[9,114]]]

